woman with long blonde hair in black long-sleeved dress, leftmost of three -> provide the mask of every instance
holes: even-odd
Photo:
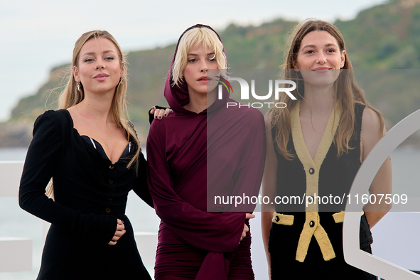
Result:
[[[126,88],[114,37],[84,33],[60,109],[36,119],[23,167],[21,208],[51,223],[38,279],[151,279],[124,215],[131,189],[153,206]]]

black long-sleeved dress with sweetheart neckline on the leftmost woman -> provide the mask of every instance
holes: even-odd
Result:
[[[140,154],[136,176],[134,168],[126,168],[136,145],[127,145],[112,164],[100,144],[93,142],[96,147],[74,129],[66,109],[47,111],[36,119],[19,204],[52,224],[38,279],[149,279],[124,215],[131,189],[153,205],[146,160]],[[55,201],[45,196],[50,178]],[[110,246],[117,218],[124,221],[126,233]]]

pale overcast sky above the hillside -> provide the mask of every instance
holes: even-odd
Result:
[[[275,18],[301,21],[350,20],[387,0],[14,0],[0,5],[0,122],[18,99],[34,95],[51,68],[70,63],[77,38],[93,29],[107,30],[124,51],[176,43],[195,23],[223,30],[230,23],[259,25]]]

